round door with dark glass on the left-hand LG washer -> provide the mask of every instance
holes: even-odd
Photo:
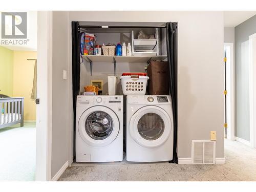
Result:
[[[78,131],[81,138],[92,146],[112,143],[120,129],[117,115],[105,106],[93,106],[81,115]]]

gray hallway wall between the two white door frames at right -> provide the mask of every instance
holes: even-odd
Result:
[[[256,15],[235,27],[236,136],[250,140],[248,62],[242,61],[241,45],[256,33]]]

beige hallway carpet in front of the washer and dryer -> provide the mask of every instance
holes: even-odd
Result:
[[[73,163],[59,181],[256,181],[256,149],[225,140],[226,164]]]

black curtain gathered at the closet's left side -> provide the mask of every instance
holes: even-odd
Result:
[[[72,22],[72,86],[73,86],[72,91],[73,91],[74,132],[75,132],[76,96],[79,95],[79,90],[80,90],[80,27],[78,22]],[[75,152],[75,139],[74,139],[74,152]]]

